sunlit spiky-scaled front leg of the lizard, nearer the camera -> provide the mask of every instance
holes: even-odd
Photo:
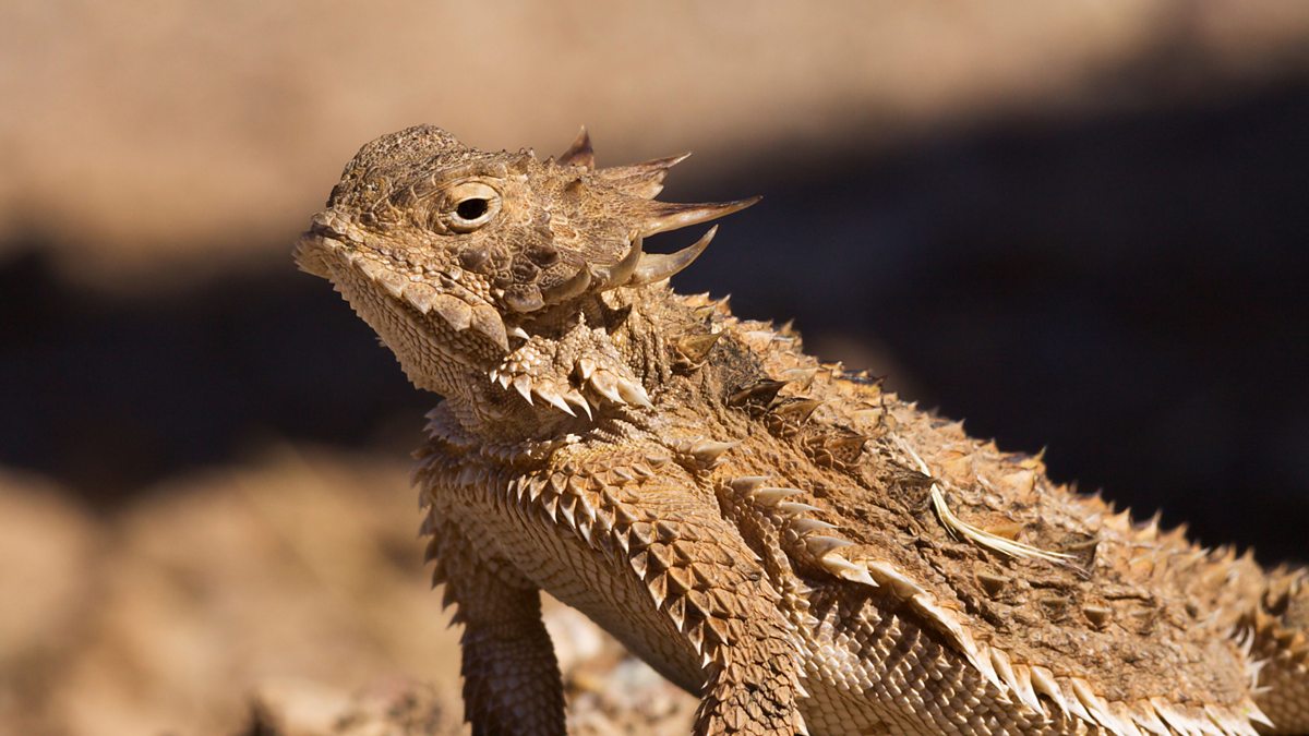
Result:
[[[648,608],[630,612],[627,634],[675,630],[694,650],[703,676],[695,733],[802,733],[780,596],[713,492],[662,448],[571,454],[560,470],[517,485],[516,500],[607,558],[617,584],[645,592]]]

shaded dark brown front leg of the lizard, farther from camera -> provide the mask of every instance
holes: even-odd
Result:
[[[539,591],[454,524],[435,526],[433,580],[444,579],[463,625],[463,718],[474,736],[563,736],[563,684]]]

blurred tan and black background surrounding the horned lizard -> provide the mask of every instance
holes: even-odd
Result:
[[[0,733],[458,732],[406,479],[432,398],[289,255],[419,122],[696,151],[665,198],[764,200],[683,291],[1309,557],[1309,4],[10,0],[0,100]],[[548,616],[579,732],[686,728]]]

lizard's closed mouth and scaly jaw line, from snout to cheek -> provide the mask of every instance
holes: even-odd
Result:
[[[363,238],[351,237],[351,230],[334,220],[329,212],[314,216],[296,245],[296,263],[332,282],[360,316],[372,321],[369,312],[390,310],[440,337],[437,344],[470,356],[497,359],[509,352],[500,313],[457,276],[397,262],[390,254],[364,245]],[[380,331],[385,338],[389,330]]]

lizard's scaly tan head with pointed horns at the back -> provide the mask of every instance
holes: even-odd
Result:
[[[672,254],[643,251],[644,237],[757,200],[654,200],[685,157],[597,169],[585,130],[539,161],[411,127],[360,149],[296,259],[335,284],[419,388],[450,397],[496,377],[507,388],[496,368],[522,340],[552,325],[559,337],[602,292],[672,276],[713,229]]]

